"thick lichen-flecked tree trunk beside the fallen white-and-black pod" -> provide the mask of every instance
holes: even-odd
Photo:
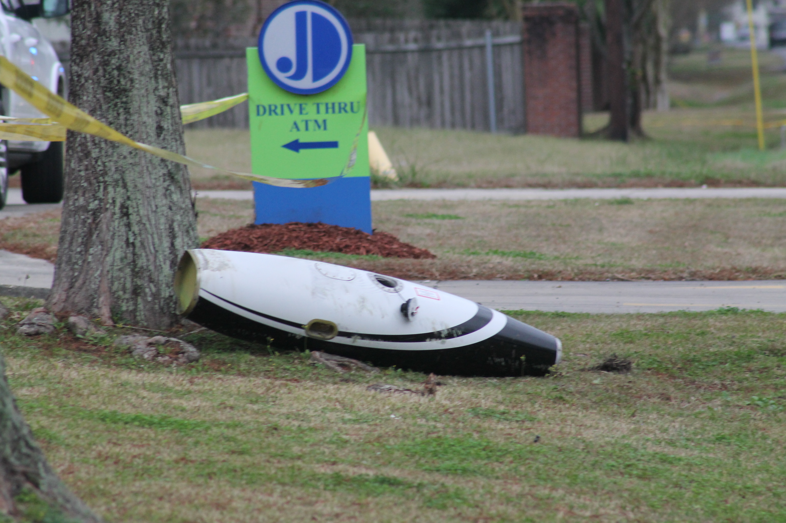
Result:
[[[184,152],[168,0],[74,0],[71,102],[127,136]],[[151,328],[177,322],[174,269],[196,247],[185,166],[68,133],[50,309]]]

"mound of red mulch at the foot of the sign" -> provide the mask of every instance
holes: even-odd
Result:
[[[384,258],[436,258],[434,254],[404,243],[387,232],[367,234],[351,227],[324,223],[265,223],[222,232],[202,244],[222,251],[280,252],[288,249],[343,254],[373,254]]]

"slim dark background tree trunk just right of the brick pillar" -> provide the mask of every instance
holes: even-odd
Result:
[[[628,71],[625,57],[625,6],[623,0],[606,0],[606,56],[608,97],[611,108],[608,137],[628,141]]]

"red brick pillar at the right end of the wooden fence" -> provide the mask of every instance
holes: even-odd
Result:
[[[522,8],[527,133],[581,135],[578,9],[570,3]]]

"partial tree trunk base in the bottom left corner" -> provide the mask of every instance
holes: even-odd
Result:
[[[29,518],[36,511],[44,518]],[[17,408],[0,356],[0,520],[98,522],[54,473]],[[28,518],[25,518],[28,516]]]

